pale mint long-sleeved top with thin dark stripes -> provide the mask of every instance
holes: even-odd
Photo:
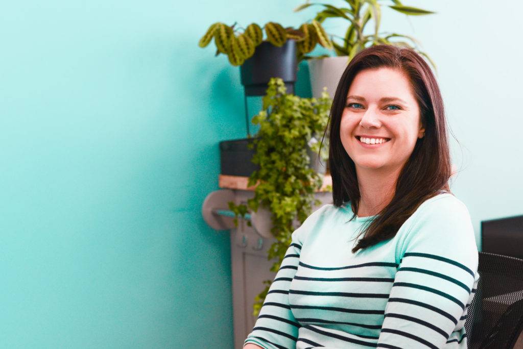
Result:
[[[323,205],[292,243],[245,343],[263,348],[466,348],[479,273],[467,207],[444,193],[352,253],[376,216]],[[361,238],[361,237],[360,237]]]

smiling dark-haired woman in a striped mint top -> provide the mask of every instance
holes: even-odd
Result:
[[[429,66],[411,49],[361,51],[328,127],[334,204],[293,232],[244,348],[467,347],[478,253]]]

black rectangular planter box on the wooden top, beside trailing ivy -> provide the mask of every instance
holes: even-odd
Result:
[[[241,138],[220,142],[220,173],[222,175],[249,177],[253,171],[259,169],[259,165],[251,161],[255,148],[247,147],[247,144],[253,143],[254,139]]]

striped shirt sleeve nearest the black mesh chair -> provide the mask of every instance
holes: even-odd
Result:
[[[478,252],[467,207],[449,195],[418,211],[396,250],[378,347],[445,347],[474,296]]]

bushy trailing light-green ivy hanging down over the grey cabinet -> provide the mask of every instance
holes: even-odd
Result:
[[[258,185],[247,205],[230,202],[229,207],[236,214],[236,224],[237,216],[244,216],[247,208],[270,212],[270,231],[276,238],[268,252],[269,259],[276,258],[271,271],[277,271],[281,264],[292,231],[297,228],[293,223],[303,223],[311,214],[312,205],[319,204],[314,193],[322,187],[325,169],[313,168],[307,149],[316,156],[320,153],[326,161],[328,144],[317,139],[325,131],[331,103],[326,92],[320,98],[288,94],[282,79],[272,78],[263,98],[263,110],[252,120],[260,125],[253,157],[259,169],[249,176],[248,185]],[[263,304],[270,283],[267,281],[267,288],[257,296],[255,313]]]

